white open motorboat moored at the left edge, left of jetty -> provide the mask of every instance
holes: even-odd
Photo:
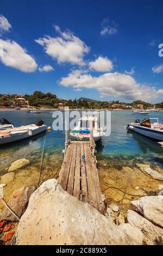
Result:
[[[0,145],[20,141],[21,139],[29,138],[45,130],[46,125],[43,124],[42,120],[37,122],[37,124],[6,129],[0,131]]]

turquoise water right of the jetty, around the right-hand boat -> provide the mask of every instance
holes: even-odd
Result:
[[[162,118],[163,112],[151,112],[150,118]],[[163,149],[152,139],[141,136],[135,132],[128,132],[124,129],[128,121],[139,118],[145,119],[146,116],[131,115],[130,111],[111,112],[111,135],[102,139],[102,147],[98,150],[101,157],[118,159],[135,159],[141,157],[151,162],[158,162],[163,166]]]

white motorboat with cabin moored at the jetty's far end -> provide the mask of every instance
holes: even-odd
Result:
[[[70,132],[70,135],[76,138],[77,141],[89,141],[91,127],[95,141],[104,136],[103,129],[99,124],[99,113],[83,112],[82,118],[78,120],[78,126]]]

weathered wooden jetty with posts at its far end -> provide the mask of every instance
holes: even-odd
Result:
[[[69,194],[105,214],[106,203],[98,179],[95,147],[92,131],[90,142],[68,141],[67,131],[65,156],[58,181]]]

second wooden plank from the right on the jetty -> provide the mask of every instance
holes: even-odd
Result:
[[[92,155],[91,155],[89,144],[84,144],[84,153],[85,153],[85,166],[86,166],[89,204],[91,204],[94,208],[97,209],[97,198],[96,198],[96,189],[95,189],[95,182],[97,181],[94,179],[92,175],[92,170],[95,169],[95,164],[92,161]]]

